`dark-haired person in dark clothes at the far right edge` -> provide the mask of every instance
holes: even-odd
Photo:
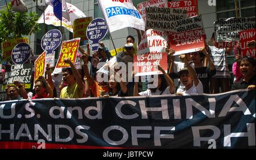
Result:
[[[240,70],[243,78],[233,84],[232,90],[255,89],[255,59],[243,57],[241,59]]]

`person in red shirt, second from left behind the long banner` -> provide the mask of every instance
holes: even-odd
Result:
[[[44,76],[35,81],[35,96],[31,100],[39,98],[53,98],[52,88]]]

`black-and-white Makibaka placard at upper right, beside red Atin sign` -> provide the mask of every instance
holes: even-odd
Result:
[[[214,31],[217,47],[234,47],[239,41],[238,32],[255,29],[253,18],[218,19],[214,22]]]

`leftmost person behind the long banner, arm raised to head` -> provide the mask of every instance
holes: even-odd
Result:
[[[27,99],[27,92],[23,88],[23,85],[19,83],[19,81],[14,81],[13,84],[15,86],[10,86],[6,88],[7,100],[22,100]]]

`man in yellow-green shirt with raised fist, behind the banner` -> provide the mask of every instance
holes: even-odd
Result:
[[[82,98],[85,93],[82,77],[70,59],[66,58],[64,62],[71,67],[62,68],[63,81],[67,86],[61,89],[60,98]]]

